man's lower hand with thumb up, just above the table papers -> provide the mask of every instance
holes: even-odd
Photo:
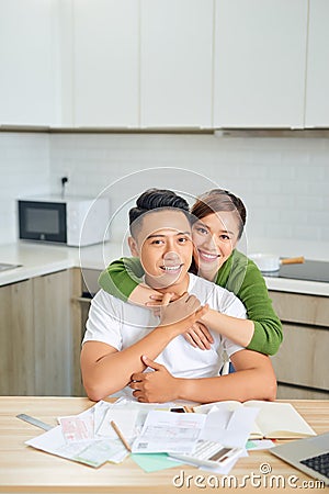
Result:
[[[134,396],[143,403],[164,403],[178,398],[177,379],[171,375],[164,366],[155,362],[146,356],[143,362],[155,370],[155,372],[137,372],[132,375],[129,386]]]

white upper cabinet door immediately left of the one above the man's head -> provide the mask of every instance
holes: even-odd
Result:
[[[73,122],[137,127],[139,2],[73,1]]]

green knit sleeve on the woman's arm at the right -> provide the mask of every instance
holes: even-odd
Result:
[[[265,355],[276,353],[283,339],[282,324],[272,306],[262,273],[254,262],[238,251],[226,271],[226,276],[218,276],[216,283],[240,299],[248,318],[254,324],[248,349]]]

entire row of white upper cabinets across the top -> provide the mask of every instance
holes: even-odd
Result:
[[[329,0],[0,0],[0,125],[329,127]]]

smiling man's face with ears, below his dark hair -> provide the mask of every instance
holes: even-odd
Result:
[[[146,213],[137,228],[129,245],[132,254],[140,259],[146,283],[154,289],[184,283],[193,252],[191,226],[184,213],[172,210]]]

